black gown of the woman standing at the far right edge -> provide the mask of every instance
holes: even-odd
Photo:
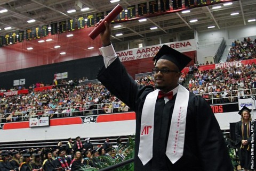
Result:
[[[243,140],[243,136],[242,136],[242,121],[239,121],[236,123],[236,129],[235,129],[235,134],[236,134],[236,146],[238,148],[238,156],[239,156],[239,161],[240,161],[240,165],[241,167],[245,168],[245,169],[252,169],[251,168],[251,134],[249,136],[247,136],[247,129],[246,129],[246,125],[244,126],[244,140],[247,140],[249,142],[249,146],[242,146],[241,148],[241,144],[242,144],[242,140]],[[254,133],[255,133],[255,122],[254,122]],[[255,155],[254,155],[255,156]]]

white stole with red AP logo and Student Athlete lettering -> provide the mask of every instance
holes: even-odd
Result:
[[[153,157],[154,113],[158,91],[155,90],[147,95],[142,109],[138,157],[143,165]],[[172,164],[183,155],[188,99],[189,91],[179,85],[166,147],[166,156]]]

